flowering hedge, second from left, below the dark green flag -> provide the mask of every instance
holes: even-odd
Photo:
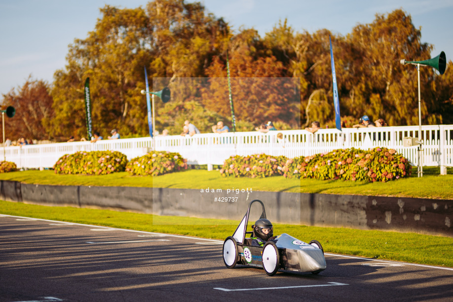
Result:
[[[118,151],[79,151],[63,155],[53,168],[57,174],[105,175],[123,172],[127,163],[126,155]]]

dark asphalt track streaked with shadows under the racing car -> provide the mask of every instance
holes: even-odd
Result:
[[[0,215],[0,302],[453,300],[451,268],[325,258],[269,277],[227,269],[217,240]]]

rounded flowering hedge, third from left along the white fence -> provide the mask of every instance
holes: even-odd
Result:
[[[126,171],[131,175],[152,175],[181,171],[187,169],[187,159],[181,154],[168,151],[152,151],[140,157],[131,159]]]

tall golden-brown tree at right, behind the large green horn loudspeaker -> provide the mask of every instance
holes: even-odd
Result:
[[[401,65],[400,60],[428,59],[432,46],[421,43],[421,30],[414,27],[411,16],[401,9],[377,14],[373,23],[357,25],[347,38],[355,45],[354,65],[349,72],[351,81],[357,84],[345,100],[351,112],[382,117],[389,125],[417,124],[417,70]],[[421,85],[429,86],[434,77],[433,70],[423,70]],[[422,93],[423,122],[436,123],[439,117],[431,113],[434,104],[426,98],[429,93]]]

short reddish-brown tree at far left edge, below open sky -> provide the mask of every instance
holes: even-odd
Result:
[[[3,94],[3,105],[13,106],[16,114],[13,118],[5,116],[5,133],[10,139],[47,140],[49,135],[45,124],[54,115],[49,85],[43,80],[33,80],[29,76],[21,87]]]

